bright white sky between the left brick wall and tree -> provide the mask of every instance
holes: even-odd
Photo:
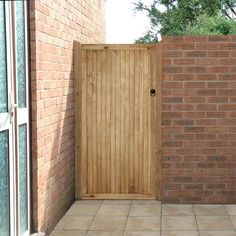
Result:
[[[148,29],[148,18],[143,13],[134,14],[133,2],[138,0],[107,0],[107,43],[134,43]],[[143,0],[150,3],[152,0]]]

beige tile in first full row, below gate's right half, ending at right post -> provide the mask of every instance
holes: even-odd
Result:
[[[130,216],[160,216],[161,205],[132,205]]]

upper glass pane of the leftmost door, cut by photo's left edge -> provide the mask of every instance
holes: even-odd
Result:
[[[7,111],[5,6],[0,2],[0,113]]]

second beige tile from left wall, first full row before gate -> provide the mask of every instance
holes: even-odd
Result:
[[[98,216],[127,216],[130,205],[101,205]]]

